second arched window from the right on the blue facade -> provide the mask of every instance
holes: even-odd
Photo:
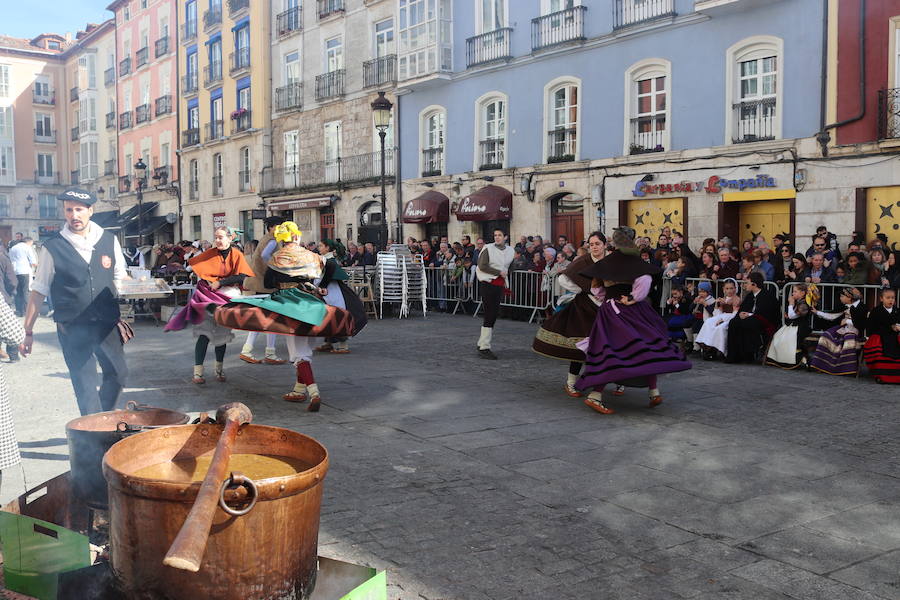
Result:
[[[624,153],[643,154],[671,149],[671,63],[665,59],[643,60],[625,73]]]

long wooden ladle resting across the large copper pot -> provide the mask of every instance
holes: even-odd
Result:
[[[225,429],[216,444],[216,452],[213,454],[206,477],[203,478],[200,491],[197,492],[194,505],[178,535],[175,536],[175,541],[169,547],[163,564],[195,573],[200,570],[213,515],[219,503],[219,489],[228,475],[228,462],[231,459],[234,440],[241,425],[252,420],[253,414],[250,409],[240,402],[225,404],[216,411],[216,422],[225,423]]]

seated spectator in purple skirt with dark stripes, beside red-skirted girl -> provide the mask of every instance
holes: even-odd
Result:
[[[809,367],[829,375],[856,375],[859,338],[865,331],[867,311],[862,303],[862,293],[856,288],[844,288],[840,296],[843,312],[826,313],[813,307],[812,312],[828,321],[840,321],[819,338]]]

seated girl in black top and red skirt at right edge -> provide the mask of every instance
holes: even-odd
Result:
[[[900,310],[896,290],[881,290],[881,304],[866,322],[869,339],[863,349],[869,372],[878,383],[900,383]]]

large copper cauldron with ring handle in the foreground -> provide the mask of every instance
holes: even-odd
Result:
[[[123,597],[299,600],[312,593],[328,452],[316,440],[280,427],[242,427],[232,461],[238,454],[261,454],[302,461],[308,468],[255,481],[236,475],[243,484],[223,485],[200,570],[163,565],[201,482],[136,473],[173,460],[209,457],[222,430],[222,425],[200,424],[145,431],[118,442],[103,458],[110,561]]]

